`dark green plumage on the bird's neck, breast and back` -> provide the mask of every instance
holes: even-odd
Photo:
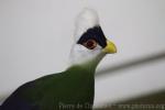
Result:
[[[38,110],[90,110],[94,103],[94,70],[74,66],[21,86],[15,91],[15,98],[33,103]]]

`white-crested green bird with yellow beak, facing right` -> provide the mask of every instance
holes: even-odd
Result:
[[[78,14],[73,36],[70,65],[23,84],[0,110],[92,110],[96,68],[107,54],[117,53],[117,47],[105,36],[94,9],[85,8]]]

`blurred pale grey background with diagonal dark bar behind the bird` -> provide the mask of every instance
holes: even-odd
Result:
[[[20,85],[67,68],[85,7],[98,11],[118,47],[98,66],[95,107],[165,103],[165,0],[0,0],[0,103]]]

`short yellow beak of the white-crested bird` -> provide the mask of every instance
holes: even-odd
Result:
[[[117,47],[112,42],[107,41],[107,46],[103,48],[103,52],[107,54],[113,54],[117,53]]]

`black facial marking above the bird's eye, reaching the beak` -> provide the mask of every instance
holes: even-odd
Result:
[[[107,40],[100,26],[95,26],[92,29],[87,30],[87,32],[84,33],[78,40],[77,44],[84,44],[88,40],[95,40],[102,47],[106,47],[107,45]]]

